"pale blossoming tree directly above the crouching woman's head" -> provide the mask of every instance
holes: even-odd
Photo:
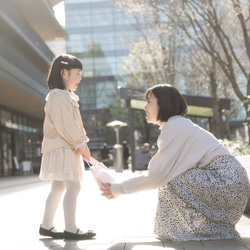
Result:
[[[129,57],[124,60],[125,80],[144,88],[157,83],[174,84],[181,48],[176,39],[178,28],[162,20],[153,1],[119,0],[116,6],[131,13],[140,34],[138,41],[131,45]]]

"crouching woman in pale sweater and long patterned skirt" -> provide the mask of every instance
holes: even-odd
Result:
[[[158,151],[148,172],[103,184],[112,199],[158,188],[155,234],[178,241],[239,237],[235,224],[250,195],[245,169],[208,131],[184,118],[187,105],[179,91],[156,85],[145,94],[149,123],[160,126]]]

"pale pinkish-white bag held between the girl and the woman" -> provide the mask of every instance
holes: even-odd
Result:
[[[89,169],[99,187],[102,187],[101,183],[115,182],[112,173],[102,162],[99,162],[93,157],[90,157],[90,159],[88,160],[88,164],[89,163],[91,164]]]

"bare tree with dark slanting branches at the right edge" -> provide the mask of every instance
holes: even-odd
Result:
[[[176,22],[188,39],[205,51],[220,66],[246,110],[250,135],[250,39],[248,1],[182,0],[178,8],[166,1],[158,5]],[[242,6],[244,5],[244,8]],[[245,10],[243,12],[242,10]],[[247,17],[245,17],[247,16]],[[237,20],[238,19],[238,20]],[[216,46],[209,32],[216,37]],[[242,85],[242,81],[244,84]],[[250,141],[249,141],[250,144]]]

